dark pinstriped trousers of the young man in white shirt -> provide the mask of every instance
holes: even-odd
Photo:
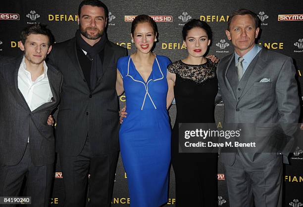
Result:
[[[26,195],[24,196],[32,197],[32,204],[27,206],[48,207],[53,178],[52,168],[53,165],[34,166],[30,156],[30,143],[28,143],[20,163],[15,166],[0,167],[0,196],[20,196],[25,178]]]

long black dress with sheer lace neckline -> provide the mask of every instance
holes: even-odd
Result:
[[[179,123],[214,123],[214,99],[218,90],[216,65],[181,60],[168,66],[176,74],[177,107],[172,131],[171,159],[176,176],[177,207],[214,207],[217,201],[217,153],[178,153]]]

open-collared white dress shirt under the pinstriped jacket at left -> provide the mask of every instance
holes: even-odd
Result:
[[[19,67],[18,88],[31,111],[34,111],[39,106],[50,102],[52,98],[50,82],[47,74],[48,66],[45,61],[43,62],[43,67],[44,73],[34,82],[32,81],[31,73],[26,70],[25,57],[23,57]],[[47,120],[45,120],[45,122],[47,122]]]

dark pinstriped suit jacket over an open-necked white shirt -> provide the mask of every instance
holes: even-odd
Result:
[[[23,56],[0,61],[0,166],[17,165],[30,137],[31,159],[35,166],[54,162],[54,136],[48,116],[60,99],[62,74],[48,64],[52,101],[31,112],[18,89],[18,71]]]

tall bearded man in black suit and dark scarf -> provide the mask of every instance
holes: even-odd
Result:
[[[62,169],[65,207],[111,204],[119,155],[116,63],[127,50],[107,40],[108,10],[100,0],[84,0],[79,30],[56,43],[49,62],[64,77],[56,118],[56,151]]]

